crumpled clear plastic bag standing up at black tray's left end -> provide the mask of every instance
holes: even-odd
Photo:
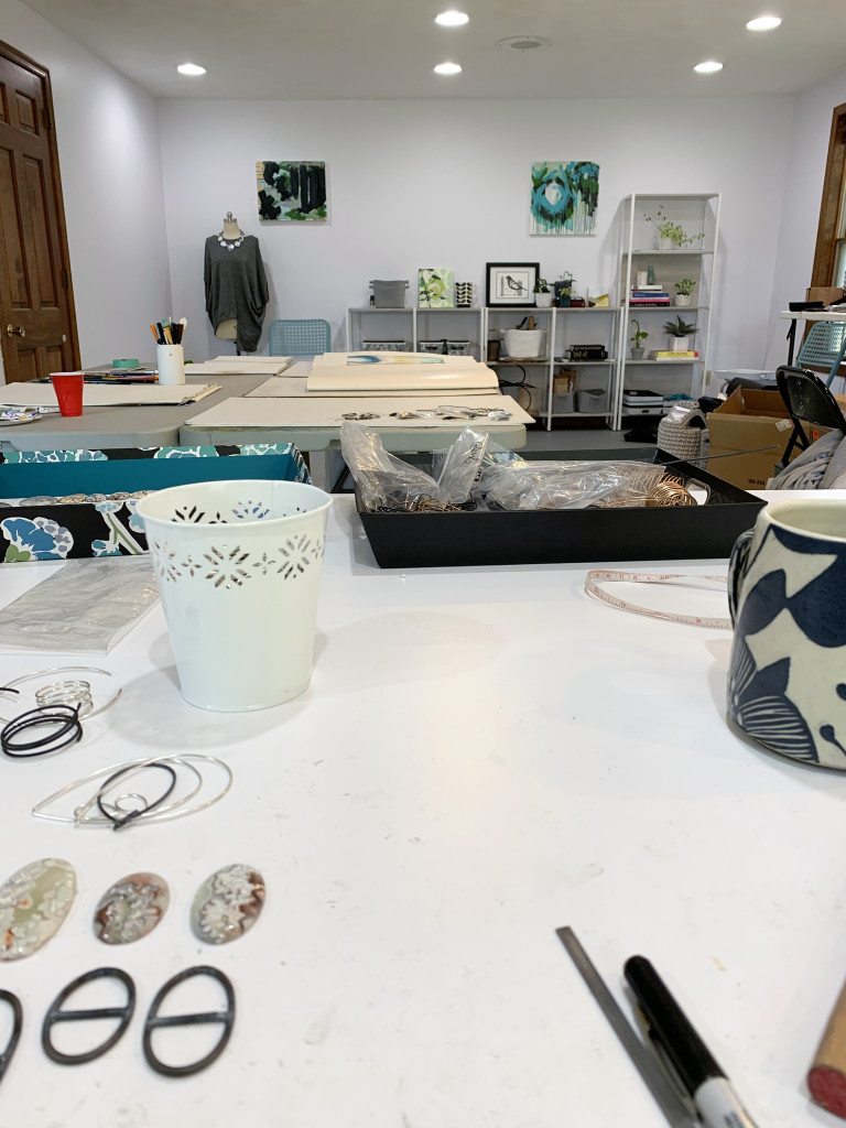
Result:
[[[443,497],[431,474],[389,455],[379,434],[371,428],[344,420],[341,424],[341,452],[365,510],[414,510],[430,502],[442,508]]]

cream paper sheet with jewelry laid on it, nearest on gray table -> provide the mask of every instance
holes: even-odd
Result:
[[[485,431],[495,428],[513,428],[517,424],[534,423],[535,420],[528,412],[512,399],[510,396],[488,395],[473,396],[465,404],[460,395],[450,395],[441,398],[426,396],[418,399],[415,396],[385,396],[369,397],[362,402],[359,396],[346,398],[329,398],[327,396],[306,396],[298,398],[267,398],[257,399],[255,397],[243,396],[240,398],[224,399],[221,404],[215,404],[199,415],[192,416],[183,425],[183,430],[199,428],[210,430],[214,428],[273,428],[305,429],[305,428],[340,428],[343,416],[349,413],[359,414],[372,412],[378,418],[362,420],[367,426],[382,430],[385,428],[398,428],[402,430],[446,428],[455,431],[457,422],[444,418],[407,418],[400,420],[391,415],[391,412],[408,412],[420,407],[425,411],[433,411],[441,404],[450,407],[492,407],[506,411],[510,414],[508,420],[488,420],[479,417],[468,420],[467,424],[481,426]],[[458,424],[460,425],[460,424]]]

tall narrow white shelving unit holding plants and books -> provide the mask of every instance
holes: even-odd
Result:
[[[655,224],[646,219],[647,215],[655,217],[659,208],[667,219],[682,227],[686,235],[702,233],[702,239],[680,248],[661,249]],[[623,395],[627,389],[655,391],[664,397],[684,393],[696,398],[702,394],[703,373],[708,363],[719,240],[719,192],[680,195],[637,193],[623,201],[618,283],[622,316],[617,335],[619,364],[613,420],[613,426],[617,430],[623,426]],[[650,266],[655,284],[660,284],[670,294],[669,306],[632,305],[632,288],[636,284],[637,274],[649,272]],[[694,279],[696,282],[689,306],[676,306],[672,301],[676,283],[682,279]],[[641,328],[649,334],[643,343],[649,352],[670,349],[670,338],[663,326],[678,316],[696,325],[691,341],[691,349],[699,353],[696,360],[631,359],[632,318],[636,318]]]

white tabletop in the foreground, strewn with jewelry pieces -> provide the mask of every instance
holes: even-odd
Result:
[[[0,567],[3,602],[52,571]],[[3,876],[58,856],[79,878],[59,934],[0,971],[25,1007],[2,1123],[661,1128],[555,936],[571,925],[628,1013],[624,960],[654,962],[763,1128],[840,1125],[803,1077],[846,976],[846,773],[728,726],[728,632],[594,602],[585,571],[382,572],[338,497],[299,699],[239,715],[186,705],[158,608],[94,659],[124,693],[83,743],[0,763]],[[715,597],[688,598],[714,614]],[[265,644],[284,645],[283,625]],[[0,656],[0,677],[55,662]],[[187,749],[235,772],[206,812],[122,834],[28,813],[89,770]],[[263,872],[266,908],[209,948],[191,900],[232,862]],[[106,948],[94,907],[142,869],[167,878],[170,909],[147,938]],[[167,1079],[143,1061],[142,1020],[168,977],[202,962],[235,985],[232,1039],[205,1073]],[[103,964],[135,979],[135,1017],[99,1060],[54,1065],[44,1013]]]

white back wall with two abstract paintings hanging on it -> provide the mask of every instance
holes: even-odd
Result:
[[[759,365],[793,99],[668,102],[162,102],[159,107],[174,312],[195,359],[231,351],[204,311],[203,243],[232,211],[259,238],[274,317],[364,305],[368,280],[452,266],[482,287],[486,262],[539,261],[611,285],[617,212],[631,192],[722,192],[714,368]],[[325,160],[328,223],[259,222],[255,162]],[[598,233],[528,235],[530,166],[600,165]],[[409,299],[413,301],[414,299]],[[259,345],[266,351],[266,336]]]

